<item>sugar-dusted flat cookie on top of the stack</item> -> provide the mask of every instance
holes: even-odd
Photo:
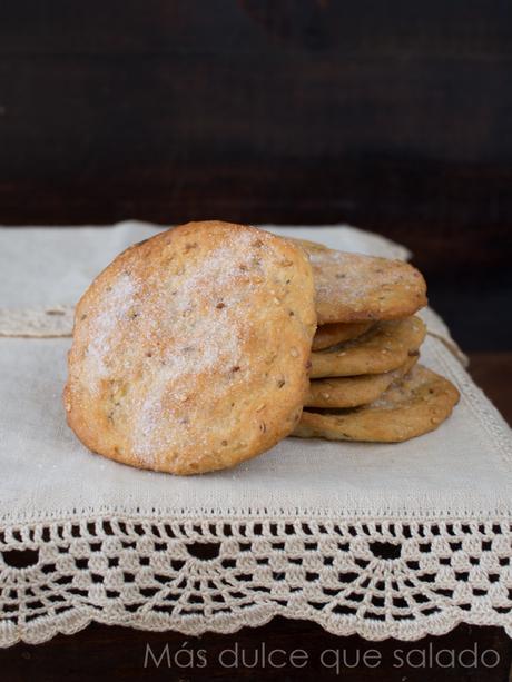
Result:
[[[318,325],[398,319],[426,305],[425,280],[407,263],[296,241],[313,267]]]

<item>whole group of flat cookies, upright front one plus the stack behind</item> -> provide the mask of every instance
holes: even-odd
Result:
[[[93,452],[174,474],[234,466],[288,435],[411,438],[459,397],[415,365],[425,303],[402,261],[183,225],[120,254],[78,303],[68,424]]]

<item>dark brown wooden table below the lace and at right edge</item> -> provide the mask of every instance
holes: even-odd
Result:
[[[509,423],[512,423],[512,352],[472,353],[471,374],[476,383],[500,408]],[[238,644],[254,656],[254,650],[265,643],[268,649],[283,649],[288,655],[296,649],[308,653],[307,665],[302,669],[292,666],[272,669],[262,668],[223,668],[216,661],[223,650]],[[170,668],[164,655],[159,666],[151,659],[150,651],[160,658],[168,645]],[[174,654],[180,649],[205,650],[205,668],[176,668]],[[476,649],[474,649],[476,648]],[[338,650],[341,661],[339,674],[335,663],[326,659],[322,665],[321,652]],[[440,650],[454,652],[455,656],[463,650],[473,649],[481,656],[486,654],[493,665],[485,668],[455,666],[442,668],[435,663],[426,668],[429,656],[435,656]],[[368,650],[380,656],[380,665],[362,665],[363,655]],[[253,653],[252,653],[253,652]],[[410,656],[410,665],[402,665]],[[450,655],[450,654],[444,654]],[[467,654],[469,655],[469,654]],[[357,658],[360,664],[355,665]],[[147,666],[145,666],[145,659]],[[183,659],[185,660],[185,659]],[[197,660],[196,660],[197,661]],[[447,661],[447,659],[445,659]],[[467,659],[470,661],[470,659]],[[345,665],[343,665],[345,662]],[[441,659],[443,664],[443,660]],[[494,665],[494,663],[496,663]],[[501,629],[460,625],[447,635],[425,637],[419,642],[404,643],[395,640],[386,642],[367,642],[357,636],[337,637],[328,634],[318,625],[305,621],[286,621],[274,619],[270,623],[256,630],[244,627],[230,635],[206,633],[201,637],[186,637],[173,632],[151,633],[124,627],[90,625],[72,635],[59,635],[46,644],[28,646],[19,644],[0,652],[0,680],[6,682],[83,682],[88,680],[385,680],[386,682],[510,682],[512,663],[512,643]]]

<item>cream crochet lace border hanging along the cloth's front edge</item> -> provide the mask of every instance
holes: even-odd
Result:
[[[187,635],[275,615],[417,640],[459,623],[512,636],[512,523],[104,517],[0,533],[0,645],[92,621]]]

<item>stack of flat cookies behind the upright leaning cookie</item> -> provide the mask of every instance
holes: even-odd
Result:
[[[318,328],[309,393],[294,435],[400,442],[436,428],[459,392],[417,364],[426,334],[422,275],[406,263],[301,241],[313,267]]]

